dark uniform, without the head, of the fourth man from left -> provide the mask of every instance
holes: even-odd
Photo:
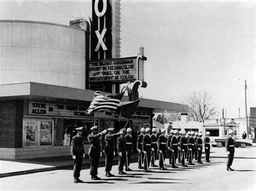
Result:
[[[117,152],[122,153],[122,157],[118,155],[118,170],[123,171],[126,160],[126,142],[123,135],[117,138]]]

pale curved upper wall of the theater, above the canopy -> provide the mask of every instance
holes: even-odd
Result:
[[[0,20],[0,84],[85,88],[85,32],[52,23]]]

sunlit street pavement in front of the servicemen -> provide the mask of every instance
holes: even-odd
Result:
[[[118,167],[113,166],[116,176],[105,177],[104,167],[99,168],[102,180],[93,181],[89,169],[81,171],[84,183],[73,183],[72,169],[10,176],[0,179],[0,190],[255,190],[256,147],[235,148],[232,168],[226,171],[225,148],[211,148],[211,163],[173,169],[169,159],[165,160],[167,171],[157,167],[144,173],[137,163],[130,165],[134,171],[118,175]],[[157,161],[158,164],[158,161]]]

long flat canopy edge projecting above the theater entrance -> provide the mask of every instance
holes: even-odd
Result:
[[[75,100],[91,102],[95,91],[88,89],[78,89],[65,86],[56,86],[52,84],[38,82],[22,82],[11,84],[0,84],[0,100],[10,97],[48,97],[62,100]],[[128,96],[123,96],[122,101],[129,101]],[[186,112],[188,105],[170,103],[164,101],[150,100],[142,98],[139,107],[150,108],[154,111],[176,111]]]

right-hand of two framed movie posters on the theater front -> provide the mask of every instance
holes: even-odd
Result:
[[[40,121],[40,145],[52,145],[52,121]]]

